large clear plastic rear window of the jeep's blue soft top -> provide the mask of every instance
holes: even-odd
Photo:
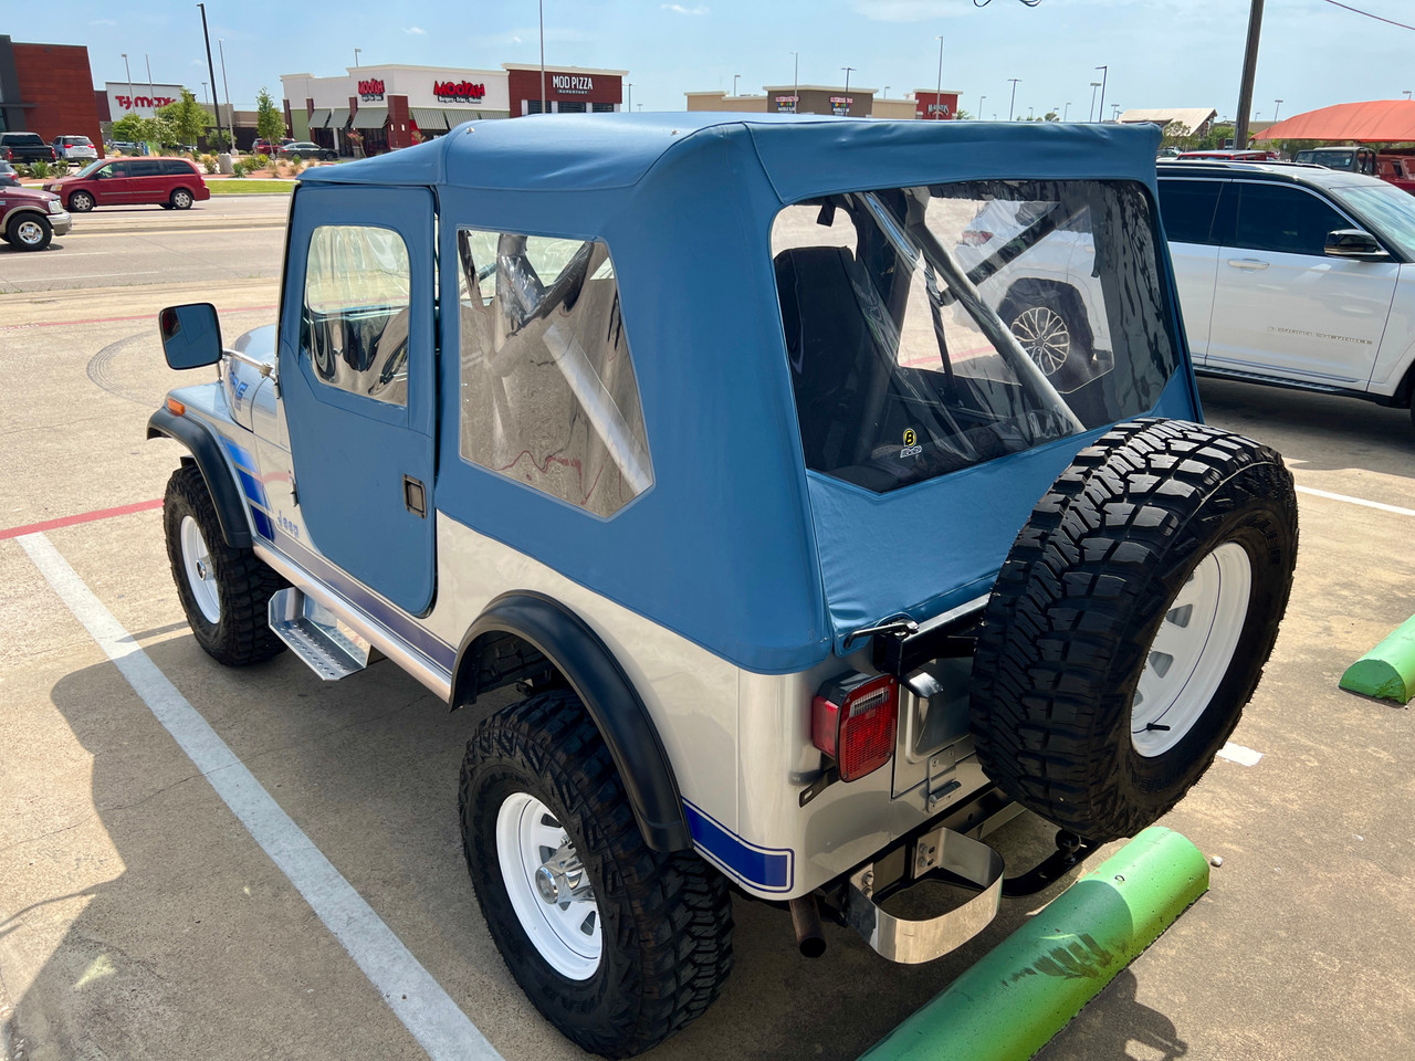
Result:
[[[886,492],[1148,412],[1177,358],[1124,181],[972,181],[784,208],[807,467]]]

